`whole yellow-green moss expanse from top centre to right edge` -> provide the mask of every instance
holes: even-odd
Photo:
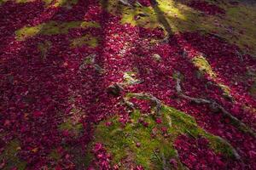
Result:
[[[172,32],[216,32],[220,37],[237,44],[244,50],[246,46],[250,47],[250,53],[256,54],[255,7],[243,3],[237,7],[226,3],[216,3],[224,8],[226,14],[212,16],[203,15],[200,11],[174,0],[157,0],[157,2],[158,6],[154,8],[138,4],[129,7],[115,0],[110,0],[108,4],[102,6],[108,8],[108,11],[113,14],[121,15],[122,24],[128,23],[132,26],[152,29],[160,26],[166,31],[169,29],[167,27],[171,27]],[[212,3],[214,4],[214,2]],[[163,22],[163,20],[165,21]],[[242,34],[241,31],[243,31]]]

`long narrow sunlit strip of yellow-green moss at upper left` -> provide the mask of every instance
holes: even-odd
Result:
[[[24,26],[18,31],[15,31],[16,39],[19,41],[26,40],[27,37],[33,37],[37,34],[42,35],[56,35],[56,34],[67,34],[70,29],[73,28],[89,28],[96,27],[99,25],[96,22],[86,21],[71,21],[71,22],[57,22],[49,21],[47,23],[38,26]]]

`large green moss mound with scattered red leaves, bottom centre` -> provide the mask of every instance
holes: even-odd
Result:
[[[105,144],[108,153],[113,156],[113,165],[118,165],[120,169],[129,169],[138,164],[145,169],[173,168],[170,160],[177,162],[178,169],[185,169],[173,146],[177,137],[183,134],[195,139],[204,137],[216,153],[229,159],[240,158],[227,141],[207,133],[196,124],[195,118],[172,107],[161,105],[160,116],[143,116],[135,110],[130,118],[131,121],[125,126],[119,122],[119,116],[113,116],[96,126],[95,142]]]

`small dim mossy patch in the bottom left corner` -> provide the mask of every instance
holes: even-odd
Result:
[[[20,143],[18,140],[11,140],[9,144],[6,145],[3,153],[0,155],[0,160],[7,161],[3,170],[11,169],[12,167],[17,167],[19,170],[26,169],[26,162],[21,161],[17,156],[20,150]]]

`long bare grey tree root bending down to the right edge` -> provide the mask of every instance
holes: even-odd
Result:
[[[219,105],[216,101],[214,100],[210,100],[210,99],[201,99],[201,98],[193,98],[193,97],[189,97],[186,94],[183,94],[182,88],[181,88],[181,79],[180,77],[180,73],[177,73],[177,77],[176,78],[176,91],[179,97],[183,98],[183,99],[188,99],[190,101],[195,102],[196,104],[206,104],[209,105],[210,108],[212,109],[212,111],[220,111],[223,113],[223,115],[225,117],[230,118],[231,122],[238,126],[238,128],[245,132],[245,133],[250,133],[254,138],[256,138],[256,133],[255,130],[251,127],[247,127],[247,125],[243,122],[241,122],[239,119],[237,119],[235,116],[232,116],[230,114],[229,111],[226,111],[224,109],[224,107],[222,105]]]

